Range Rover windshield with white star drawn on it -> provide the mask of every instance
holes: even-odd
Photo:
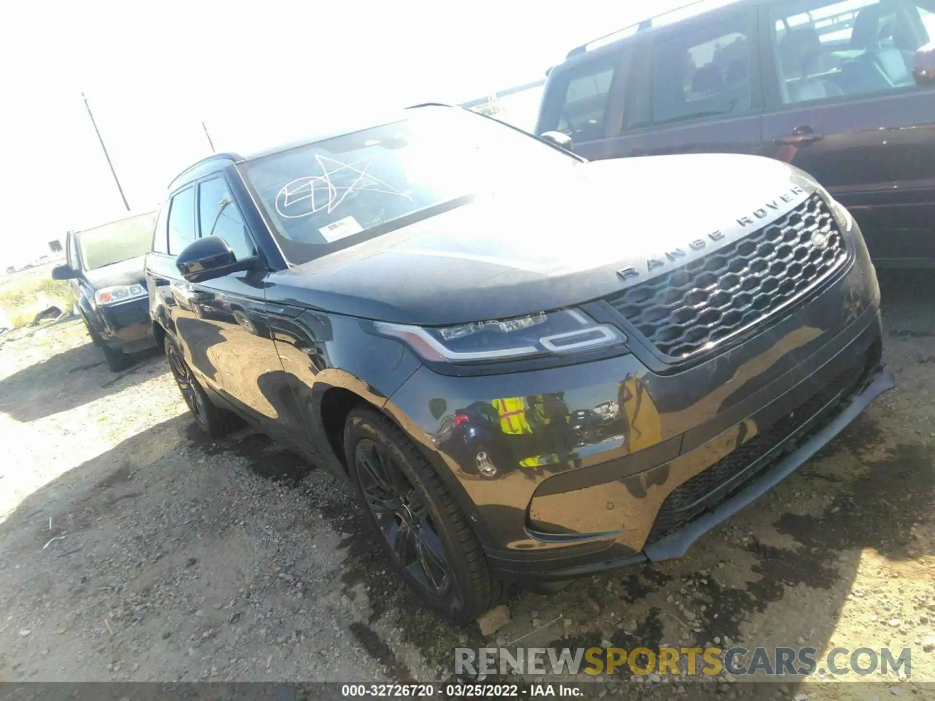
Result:
[[[305,263],[581,162],[511,127],[451,107],[241,165],[282,252]]]

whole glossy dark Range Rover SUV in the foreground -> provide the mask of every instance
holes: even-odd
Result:
[[[588,163],[415,107],[192,165],[153,249],[195,420],[350,479],[462,621],[682,554],[893,386],[856,222],[765,158]]]

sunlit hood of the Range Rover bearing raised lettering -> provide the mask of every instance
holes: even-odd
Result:
[[[422,325],[570,307],[751,234],[817,188],[756,156],[588,163],[275,273],[267,295]]]

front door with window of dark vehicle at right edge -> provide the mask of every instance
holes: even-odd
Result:
[[[848,207],[878,265],[935,260],[935,89],[915,84],[935,0],[792,0],[763,9],[768,155]]]

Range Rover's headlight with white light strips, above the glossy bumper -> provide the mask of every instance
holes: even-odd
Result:
[[[446,328],[374,322],[377,332],[409,344],[425,360],[478,363],[534,355],[568,355],[621,345],[626,336],[577,309]]]

